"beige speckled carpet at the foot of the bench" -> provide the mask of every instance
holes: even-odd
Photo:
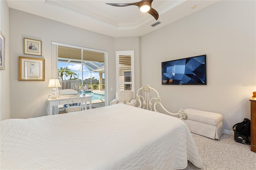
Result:
[[[192,133],[203,168],[188,163],[185,170],[256,170],[256,153],[250,145],[234,141],[234,136],[223,134],[220,140],[212,140]]]

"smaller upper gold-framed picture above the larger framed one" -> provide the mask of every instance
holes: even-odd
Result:
[[[42,55],[42,41],[24,38],[24,54]]]

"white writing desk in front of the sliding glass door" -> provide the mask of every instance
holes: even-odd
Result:
[[[89,109],[92,109],[92,96],[90,95],[80,95],[80,97],[83,99],[84,107],[83,110],[86,110],[86,103],[89,102]],[[56,110],[56,113],[58,113],[58,105],[66,105],[68,102],[68,97],[58,97],[56,99],[47,99],[47,113],[48,115],[53,115],[53,109]],[[53,108],[54,107],[54,108]]]

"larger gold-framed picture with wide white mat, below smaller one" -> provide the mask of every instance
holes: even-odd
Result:
[[[19,81],[44,81],[44,59],[19,57]]]

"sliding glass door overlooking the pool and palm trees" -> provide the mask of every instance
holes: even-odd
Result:
[[[105,61],[107,61],[106,51],[52,42],[52,77],[58,78],[63,88],[72,88],[72,83],[76,82],[80,94],[82,85],[86,85],[88,87],[86,93],[93,95],[92,103],[104,103],[104,105],[108,95],[105,88],[107,86]]]

